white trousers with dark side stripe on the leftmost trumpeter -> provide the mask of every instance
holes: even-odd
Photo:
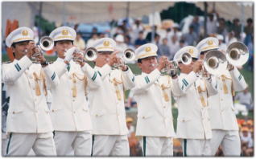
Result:
[[[36,156],[56,156],[56,147],[50,133],[10,133],[6,155],[27,156],[31,149]]]

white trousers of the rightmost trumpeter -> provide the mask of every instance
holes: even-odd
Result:
[[[214,156],[221,145],[225,156],[234,157],[241,154],[241,141],[238,131],[212,130],[211,139],[212,155]]]

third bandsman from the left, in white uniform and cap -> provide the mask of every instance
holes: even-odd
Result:
[[[113,39],[97,39],[91,47],[97,50],[94,70],[101,77],[100,88],[89,93],[93,122],[93,156],[129,156],[128,129],[124,91],[134,87],[130,68],[111,70],[118,62]]]

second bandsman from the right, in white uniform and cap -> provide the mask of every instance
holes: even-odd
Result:
[[[178,95],[175,101],[179,112],[176,135],[184,140],[184,156],[209,156],[212,130],[207,97],[217,93],[217,84],[213,78],[205,80],[200,77],[202,61],[197,60],[199,52],[196,47],[183,47],[176,52],[174,60],[180,59],[185,52],[192,55],[192,63],[179,62],[180,76],[176,80],[182,93],[174,92]]]

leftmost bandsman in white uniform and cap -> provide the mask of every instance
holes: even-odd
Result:
[[[31,149],[38,156],[55,156],[52,121],[45,94],[48,84],[59,84],[56,73],[48,67],[43,55],[39,63],[32,63],[35,54],[34,33],[19,27],[6,38],[6,45],[14,52],[14,61],[2,65],[2,81],[10,95],[7,116],[7,156],[26,156]]]

